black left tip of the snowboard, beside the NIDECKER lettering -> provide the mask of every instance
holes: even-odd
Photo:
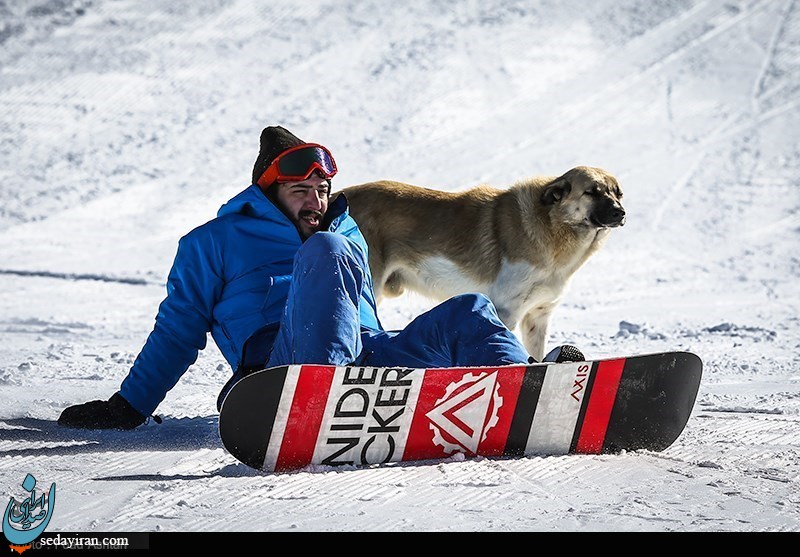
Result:
[[[259,469],[264,463],[272,424],[278,410],[287,367],[271,368],[267,373],[251,374],[239,381],[222,401],[219,433],[222,443],[233,457]],[[254,388],[242,389],[243,381],[256,377]],[[260,442],[254,442],[259,440]]]

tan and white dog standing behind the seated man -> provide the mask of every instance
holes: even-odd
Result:
[[[341,191],[369,246],[378,303],[481,292],[541,361],[569,279],[625,222],[617,180],[579,166],[508,189],[451,193],[380,181]]]

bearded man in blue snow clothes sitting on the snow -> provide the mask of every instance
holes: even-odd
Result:
[[[322,145],[265,128],[253,184],[180,240],[155,327],[119,392],[66,408],[58,423],[144,423],[205,348],[208,332],[234,371],[218,409],[235,381],[271,366],[532,361],[482,294],[456,296],[402,330],[384,330],[366,242],[344,196],[328,203],[336,171]]]

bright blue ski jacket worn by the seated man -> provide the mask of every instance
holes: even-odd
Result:
[[[326,220],[329,232],[342,234],[367,255],[343,195],[328,207]],[[209,332],[234,371],[254,334],[269,344],[268,353],[301,245],[294,224],[256,184],[181,238],[153,331],[120,387],[125,400],[143,415],[152,414],[196,361]],[[367,281],[359,304],[361,326],[380,331],[372,278]]]

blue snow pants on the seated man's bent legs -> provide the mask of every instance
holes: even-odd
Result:
[[[399,331],[361,327],[367,288],[363,252],[339,234],[317,232],[294,260],[286,310],[267,367],[287,364],[412,368],[528,363],[519,339],[482,294],[455,296]]]

